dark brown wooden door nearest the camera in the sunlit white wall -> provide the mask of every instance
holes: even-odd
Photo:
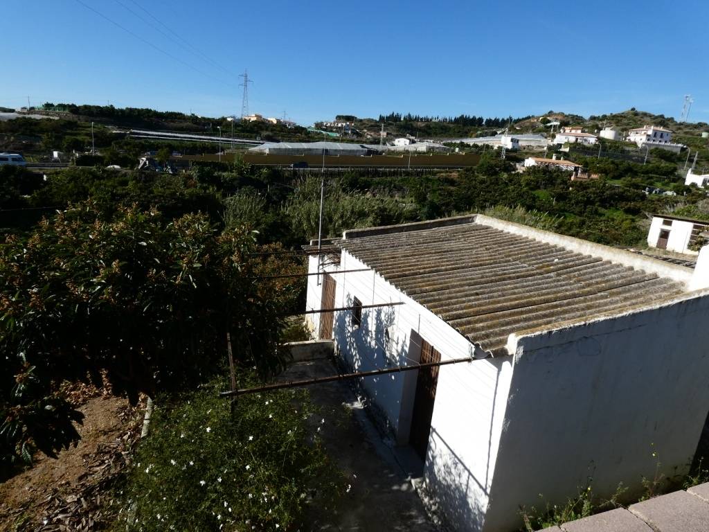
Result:
[[[421,340],[420,363],[440,362],[441,354],[426,340]],[[418,370],[416,393],[413,399],[413,414],[411,416],[411,433],[409,443],[416,453],[425,460],[428,448],[428,436],[431,431],[433,404],[436,399],[439,366],[424,367]]]

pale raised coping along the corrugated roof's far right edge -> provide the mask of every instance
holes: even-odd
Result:
[[[476,223],[500,229],[507,233],[533,238],[534,240],[539,240],[547,244],[558,245],[583,255],[601,257],[603,260],[629,266],[636,270],[652,272],[660,277],[666,277],[682,283],[687,290],[693,275],[693,270],[688,267],[671,264],[671,262],[665,262],[663,260],[647,257],[647,255],[639,255],[630,251],[612,248],[609,245],[588,242],[588,240],[581,240],[581,238],[574,238],[573,236],[559,235],[551,231],[543,231],[542,229],[523,226],[520,223],[491,218],[491,216],[485,216],[484,214],[477,215]]]

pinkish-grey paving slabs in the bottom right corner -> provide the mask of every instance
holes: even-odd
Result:
[[[545,528],[545,532],[708,532],[709,482],[603,514]]]

